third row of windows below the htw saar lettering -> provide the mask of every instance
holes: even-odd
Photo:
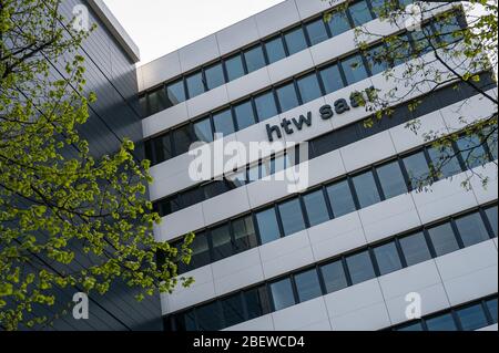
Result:
[[[222,330],[493,237],[497,237],[497,205],[173,314],[167,326],[175,331]]]

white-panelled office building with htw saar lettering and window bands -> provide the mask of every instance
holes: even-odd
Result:
[[[466,84],[428,85],[367,127],[373,113],[352,93],[397,82],[383,76],[389,63],[358,52],[354,28],[416,34],[379,21],[371,0],[325,23],[328,10],[286,0],[138,69],[150,195],[163,217],[155,236],[196,233],[181,268],[195,283],[162,298],[165,330],[497,330],[497,136],[480,147],[485,166],[459,155],[430,190],[414,185],[438,158],[422,132],[497,107]],[[481,79],[497,96],[490,74]],[[421,104],[410,110],[409,97]],[[416,118],[417,135],[406,128]],[[277,149],[200,181],[187,150],[213,146],[214,133],[245,147],[306,142],[308,155]],[[268,177],[306,163],[306,189]],[[487,188],[478,178],[462,187],[473,172],[490,177]],[[421,320],[406,315],[414,298]]]

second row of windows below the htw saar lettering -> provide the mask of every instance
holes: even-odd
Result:
[[[470,139],[476,138],[460,138],[456,148],[464,149]],[[497,158],[497,152],[491,156],[487,145],[477,146],[489,160]],[[449,147],[424,147],[277,201],[248,216],[198,231],[192,243],[191,263],[181,263],[179,271],[183,273],[200,268],[419,188],[432,175],[431,167],[441,165],[441,160],[445,164],[441,165],[440,178],[451,177],[477,166],[475,158],[465,160],[457,150]],[[181,245],[182,241],[174,246]]]

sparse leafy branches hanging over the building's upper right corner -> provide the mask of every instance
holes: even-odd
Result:
[[[497,72],[493,71],[498,64],[497,0],[370,2],[378,19],[395,31],[387,35],[379,27],[377,32],[367,24],[355,30],[356,44],[367,62],[371,68],[384,66],[383,75],[393,86],[388,92],[375,87],[377,94],[369,102],[363,102],[368,111],[376,112],[373,118],[366,120],[366,125],[389,117],[391,107],[401,102],[408,101],[409,108],[416,110],[425,100],[424,95],[416,96],[422,93],[430,96],[445,85],[458,90],[459,83],[464,83],[480,97],[481,104],[492,106],[492,113],[480,118],[466,116],[466,100],[457,111],[459,126],[455,128],[421,131],[419,120],[408,123],[407,128],[422,135],[439,152],[431,173],[413,180],[414,185],[419,189],[430,186],[457,155],[468,166],[482,166],[495,159],[497,176],[498,96],[497,90],[491,92],[490,85],[485,89],[483,83],[492,81],[497,84]],[[329,3],[334,4],[334,1]],[[352,1],[339,6],[338,11],[346,11],[349,3]],[[332,12],[325,15],[326,21],[330,18]],[[405,65],[398,65],[400,63]],[[487,187],[490,174],[482,170],[472,168],[462,185],[468,188],[471,178],[477,177]]]

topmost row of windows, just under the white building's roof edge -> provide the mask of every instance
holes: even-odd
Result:
[[[149,116],[169,108],[369,22],[377,17],[376,7],[380,2],[384,0],[356,1],[346,11],[333,12],[327,22],[324,21],[323,13],[306,23],[297,24],[286,32],[277,33],[268,40],[240,50],[236,54],[169,82],[141,97],[144,114]],[[406,6],[411,1],[403,0],[400,2]]]

